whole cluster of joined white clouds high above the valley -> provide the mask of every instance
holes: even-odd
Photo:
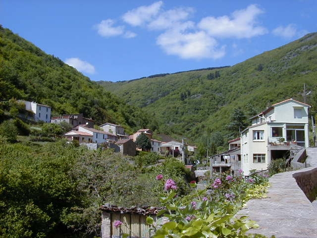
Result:
[[[225,56],[224,38],[245,39],[266,34],[268,31],[258,21],[264,13],[256,4],[236,10],[231,15],[207,16],[198,23],[191,21],[195,13],[192,7],[163,9],[163,1],[142,5],[121,16],[123,24],[147,30],[161,31],[157,45],[168,55],[181,59],[219,59]],[[126,26],[115,26],[111,19],[98,24],[98,33],[105,37],[136,37],[136,33],[125,30]],[[242,52],[234,49],[235,52]]]

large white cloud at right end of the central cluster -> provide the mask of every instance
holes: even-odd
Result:
[[[256,18],[264,13],[257,5],[249,5],[246,9],[236,10],[229,16],[205,17],[199,23],[200,29],[213,37],[251,38],[267,33],[266,28],[258,26]]]

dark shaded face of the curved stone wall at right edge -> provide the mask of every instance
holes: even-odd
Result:
[[[307,198],[313,202],[317,197],[317,168],[293,174],[298,186]]]

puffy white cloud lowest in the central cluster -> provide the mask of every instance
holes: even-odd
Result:
[[[168,55],[176,55],[182,59],[218,59],[225,55],[224,47],[216,49],[216,40],[204,31],[194,33],[166,31],[158,37],[157,44]]]

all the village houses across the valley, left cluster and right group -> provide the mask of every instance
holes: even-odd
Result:
[[[124,127],[104,123],[96,129],[93,119],[88,119],[83,114],[62,115],[51,118],[51,107],[25,102],[25,107],[34,113],[36,121],[47,123],[67,122],[73,129],[64,134],[68,141],[76,140],[90,149],[100,146],[112,148],[123,155],[135,156],[138,148],[137,138],[143,134],[151,147],[148,152],[160,155],[182,156],[185,164],[191,161],[185,156],[185,151],[197,153],[197,147],[178,141],[159,141],[153,137],[151,129],[139,129],[128,135]],[[284,158],[290,165],[292,159],[301,151],[309,147],[309,108],[310,105],[293,99],[288,99],[271,105],[261,113],[251,118],[252,123],[241,131],[241,137],[228,141],[228,151],[211,155],[210,170],[212,172],[227,172],[238,174],[242,170],[244,175],[250,171],[265,171],[271,161]],[[51,118],[51,120],[50,120]],[[184,155],[184,156],[183,156]]]

